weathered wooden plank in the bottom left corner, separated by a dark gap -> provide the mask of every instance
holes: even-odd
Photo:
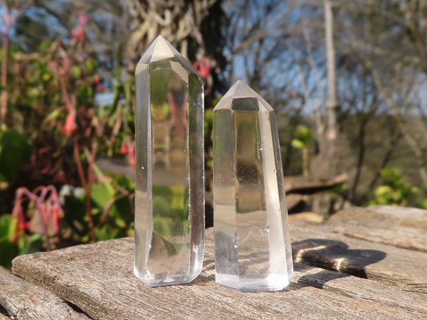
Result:
[[[0,306],[14,319],[89,319],[48,290],[16,277],[3,267],[0,267]]]

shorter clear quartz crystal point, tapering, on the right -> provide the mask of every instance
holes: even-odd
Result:
[[[292,252],[273,108],[238,81],[214,109],[216,282],[241,291],[290,284]]]

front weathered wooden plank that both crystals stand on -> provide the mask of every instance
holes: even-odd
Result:
[[[310,234],[310,233],[308,233]],[[408,308],[384,302],[381,296],[372,301],[357,285],[344,286],[346,294],[334,292],[332,283],[343,274],[332,272],[322,286],[307,284],[317,279],[310,270],[297,270],[297,282],[283,292],[242,293],[214,282],[212,230],[206,232],[204,270],[191,284],[171,287],[146,287],[132,275],[134,242],[130,238],[70,247],[53,252],[17,257],[13,270],[21,277],[46,287],[72,302],[95,319],[410,319],[421,317],[426,307]],[[307,273],[309,272],[309,273]],[[304,274],[310,276],[304,277]],[[350,278],[346,277],[345,279]],[[351,277],[354,279],[354,277]],[[344,278],[342,278],[344,281]],[[323,281],[323,280],[322,280]],[[374,282],[369,282],[374,286]],[[320,289],[322,287],[323,289]],[[368,286],[369,287],[369,286]],[[327,289],[330,288],[330,289]],[[381,287],[380,289],[384,289]],[[360,292],[352,297],[351,292]],[[416,295],[409,295],[418,297]],[[415,299],[415,298],[414,298]],[[422,311],[422,312],[421,312]]]

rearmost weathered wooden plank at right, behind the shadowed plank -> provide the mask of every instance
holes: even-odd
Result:
[[[354,207],[335,213],[325,226],[325,230],[347,237],[427,252],[427,210]]]

